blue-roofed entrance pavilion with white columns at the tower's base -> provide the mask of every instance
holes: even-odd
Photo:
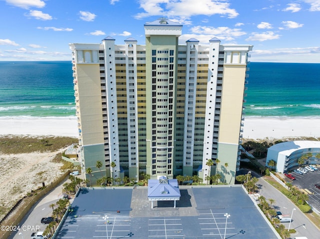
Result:
[[[151,201],[151,208],[153,208],[153,201],[174,201],[174,208],[176,201],[180,200],[181,194],[176,179],[167,179],[166,176],[160,176],[158,179],[148,180],[148,200]]]

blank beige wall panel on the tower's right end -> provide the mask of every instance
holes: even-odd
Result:
[[[223,66],[219,142],[239,143],[245,69],[245,65]]]

